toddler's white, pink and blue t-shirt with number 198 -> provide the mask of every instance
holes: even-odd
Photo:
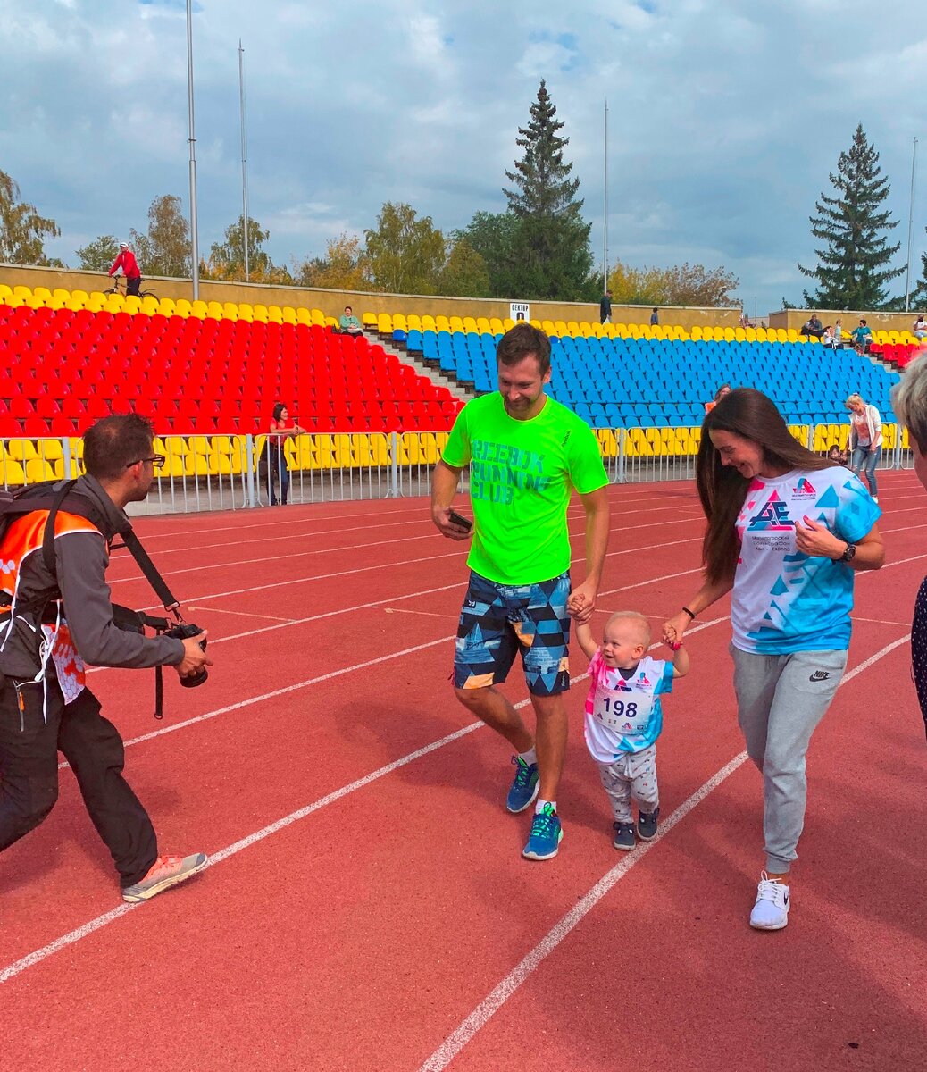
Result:
[[[589,662],[586,746],[597,763],[649,748],[663,728],[660,696],[673,690],[673,664],[645,655],[625,680],[601,652]]]

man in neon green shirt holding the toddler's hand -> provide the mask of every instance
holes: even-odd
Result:
[[[431,511],[449,539],[473,535],[454,691],[515,749],[506,806],[518,813],[535,804],[523,855],[548,860],[563,838],[556,796],[567,746],[570,616],[587,622],[595,609],[609,537],[608,477],[589,427],[544,394],[551,343],[543,331],[515,325],[496,357],[498,391],[458,415],[434,470]],[[467,466],[472,530],[452,520],[450,508]],[[573,489],[586,515],[586,576],[571,594],[567,507]],[[519,653],[535,735],[495,687]]]

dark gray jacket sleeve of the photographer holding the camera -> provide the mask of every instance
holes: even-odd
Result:
[[[62,533],[55,539],[58,586],[77,654],[92,666],[143,669],[179,666],[183,641],[143,637],[113,622],[106,540],[92,532]]]

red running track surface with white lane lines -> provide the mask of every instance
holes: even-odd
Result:
[[[119,907],[63,770],[51,816],[0,857],[0,1067],[923,1069],[927,747],[907,636],[927,500],[911,474],[880,485],[888,566],[857,577],[859,669],[812,742],[778,934],[747,926],[762,796],[727,604],[697,623],[666,704],[660,838],[612,849],[579,681],[566,837],[530,863],[528,819],[503,806],[507,746],[447,684],[464,551],[422,501],[145,521],[215,667],[203,688],[167,684],[162,724],[151,675],[91,681],[162,849],[211,866]],[[691,485],[612,502],[599,606],[659,623],[698,579]],[[571,527],[581,549],[578,513]],[[151,602],[130,562],[110,574],[121,602]],[[525,699],[520,673],[506,688]]]

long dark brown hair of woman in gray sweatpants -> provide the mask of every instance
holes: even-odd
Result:
[[[789,431],[789,426],[772,399],[752,387],[738,387],[726,394],[702,421],[702,442],[696,459],[696,485],[702,509],[708,520],[702,542],[705,577],[712,583],[731,579],[737,567],[739,540],[734,522],[749,482],[732,466],[722,465],[711,431],[733,432],[750,440],[763,452],[764,462],[788,472],[833,468],[826,458],[803,447]]]

